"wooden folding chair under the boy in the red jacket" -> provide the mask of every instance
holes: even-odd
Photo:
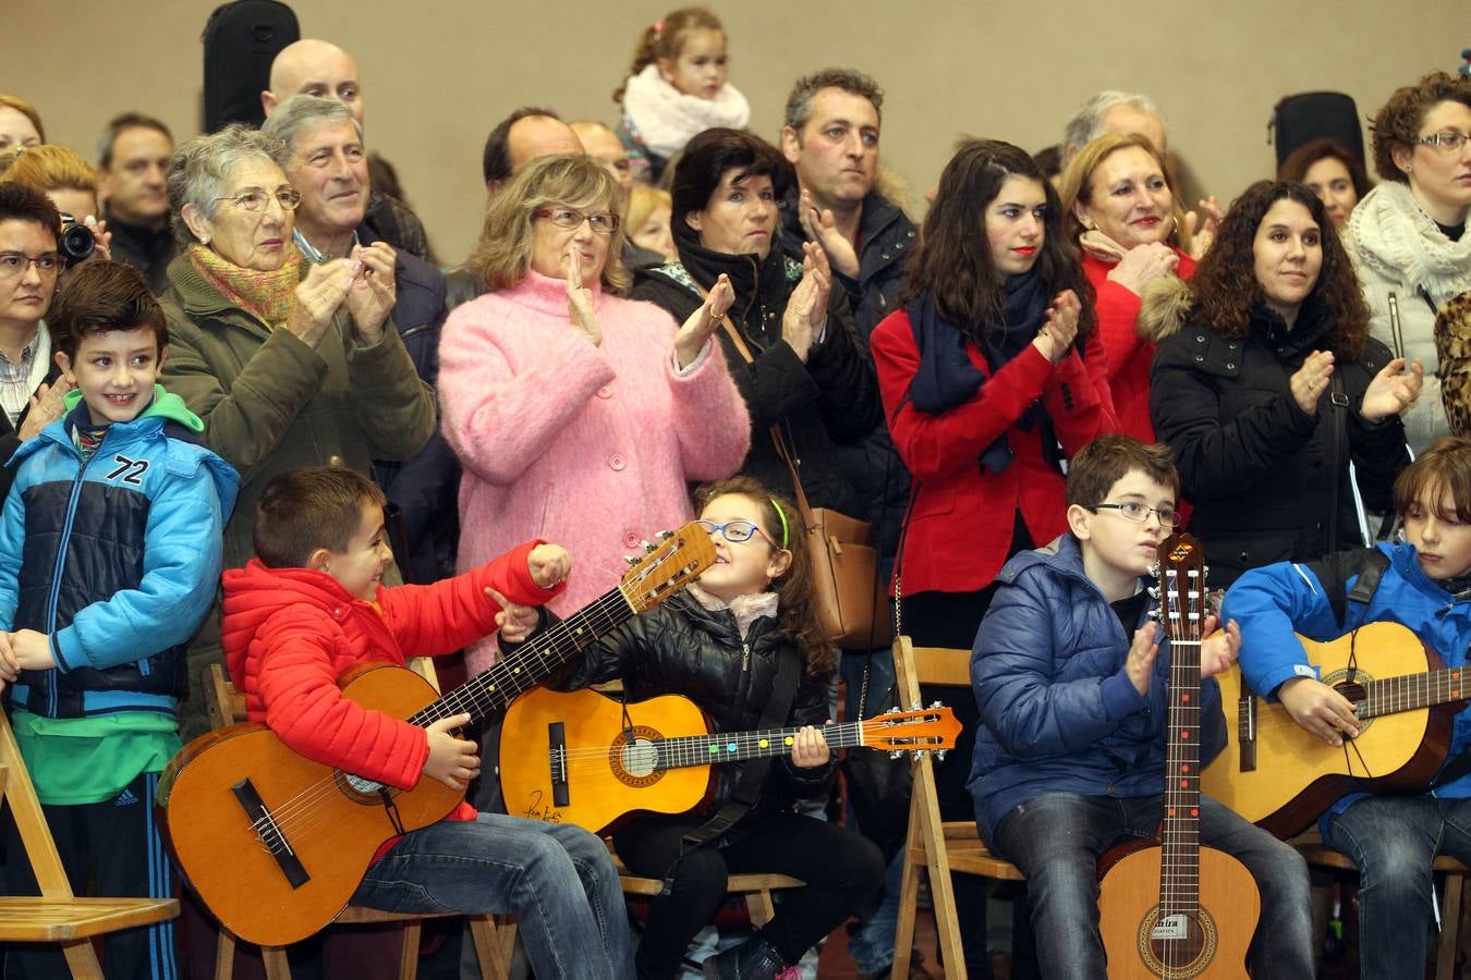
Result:
[[[434,666],[419,657],[410,666],[421,674],[435,682]],[[225,727],[246,720],[246,695],[235,689],[225,677],[225,670],[219,664],[210,666],[210,683],[204,691],[204,705],[209,711],[210,724]],[[435,683],[435,686],[438,686]],[[397,923],[403,926],[403,959],[399,964],[402,980],[415,980],[419,971],[419,930],[427,918],[459,918],[455,912],[413,915],[409,912],[384,912],[377,908],[349,905],[334,924],[338,926],[371,926]],[[505,980],[510,976],[510,956],[516,945],[516,927],[513,923],[497,924],[493,915],[465,915],[469,921],[471,937],[475,942],[475,955],[480,956],[480,976],[484,980]],[[268,980],[291,980],[291,965],[287,961],[282,946],[262,946],[260,958],[265,962]],[[235,968],[235,937],[221,927],[219,946],[215,952],[215,980],[231,980]]]

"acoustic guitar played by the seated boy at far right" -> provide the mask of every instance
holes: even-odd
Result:
[[[1252,693],[1233,667],[1219,677],[1227,746],[1203,777],[1208,793],[1283,839],[1302,833],[1347,792],[1428,786],[1465,707],[1461,669],[1447,670],[1399,623],[1370,623],[1327,644],[1297,639],[1322,683],[1355,705],[1358,738],[1328,745],[1281,704]]]

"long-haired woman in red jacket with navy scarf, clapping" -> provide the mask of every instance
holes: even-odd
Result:
[[[974,644],[1006,558],[1066,530],[1062,457],[1114,430],[1106,388],[1077,351],[1093,331],[1093,289],[1061,216],[1024,150],[964,144],[940,175],[903,307],[869,339],[894,448],[913,475],[894,591],[916,645]],[[947,820],[974,818],[966,701],[938,770]],[[956,876],[956,911],[971,976],[990,976],[978,880]]]

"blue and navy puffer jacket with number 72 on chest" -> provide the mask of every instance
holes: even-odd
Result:
[[[88,420],[79,392],[12,458],[0,629],[46,633],[56,658],[15,685],[15,704],[34,714],[174,714],[185,693],[184,644],[215,601],[240,478],[191,441],[204,426],[184,403],[153,391],[85,464],[71,438]]]

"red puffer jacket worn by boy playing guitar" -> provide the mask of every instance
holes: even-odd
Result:
[[[434,585],[380,588],[377,602],[310,569],[268,569],[253,558],[227,570],[221,642],[250,720],[310,760],[413,788],[430,754],[425,730],[344,698],[337,679],[362,663],[402,667],[405,651],[437,657],[493,633],[500,605],[485,586],[522,605],[546,602],[562,586],[531,580],[527,555],[537,544]]]

